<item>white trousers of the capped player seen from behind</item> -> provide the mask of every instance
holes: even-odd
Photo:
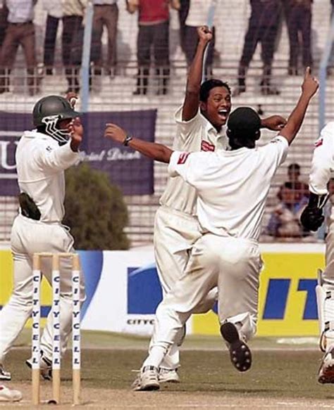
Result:
[[[236,323],[242,338],[251,338],[256,332],[261,268],[256,241],[212,233],[199,238],[185,273],[156,309],[151,357],[156,358],[154,347],[168,352],[184,323],[197,313],[204,297],[217,285],[220,323],[225,320]],[[149,356],[144,362],[147,365],[159,366],[159,363]]]

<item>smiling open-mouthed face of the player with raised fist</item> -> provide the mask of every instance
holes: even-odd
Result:
[[[225,125],[231,110],[231,95],[226,87],[214,87],[206,101],[200,103],[201,112],[217,129]]]

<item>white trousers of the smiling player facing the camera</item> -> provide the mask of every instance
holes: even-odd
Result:
[[[154,256],[156,269],[166,295],[178,279],[185,273],[194,243],[202,236],[196,217],[170,207],[161,206],[156,211],[154,220]],[[217,289],[211,290],[204,297],[198,313],[208,312],[217,300]],[[181,329],[175,344],[169,350],[161,367],[177,369],[180,366],[179,347],[183,342],[185,329]],[[151,343],[154,343],[154,335]]]

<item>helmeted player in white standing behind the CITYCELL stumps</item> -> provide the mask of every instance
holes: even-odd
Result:
[[[24,132],[16,150],[20,213],[13,222],[13,294],[0,312],[0,369],[4,358],[32,312],[32,256],[35,252],[75,252],[73,237],[61,221],[64,216],[64,170],[78,161],[82,124],[78,113],[60,96],[39,100],[33,110],[37,129]],[[51,283],[51,260],[42,260],[42,273]],[[81,300],[85,299],[81,275]],[[61,353],[66,350],[72,321],[70,260],[61,260]],[[52,358],[52,315],[41,340],[41,370],[49,378]],[[27,361],[30,365],[30,361]]]

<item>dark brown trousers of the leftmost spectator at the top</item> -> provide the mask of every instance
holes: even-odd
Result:
[[[35,94],[39,79],[36,70],[35,26],[32,22],[8,24],[0,53],[0,92],[8,90],[9,75],[19,46],[22,46],[25,55],[27,85],[30,94]]]

